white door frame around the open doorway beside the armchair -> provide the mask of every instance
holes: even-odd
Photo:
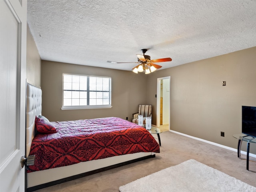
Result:
[[[160,127],[160,96],[161,96],[161,80],[169,80],[169,90],[171,90],[171,76],[157,78],[157,98],[156,98],[156,126]],[[170,98],[170,94],[169,94]],[[169,105],[169,116],[170,116],[170,105]],[[170,130],[170,117],[169,117],[169,130]]]

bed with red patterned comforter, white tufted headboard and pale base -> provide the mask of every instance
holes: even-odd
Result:
[[[152,158],[160,152],[145,128],[116,117],[50,122],[54,132],[37,132],[38,119],[45,118],[41,112],[42,90],[27,83],[26,156],[36,155],[35,164],[27,167],[27,191]]]

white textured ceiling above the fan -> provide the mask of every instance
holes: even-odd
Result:
[[[164,69],[256,46],[256,0],[28,0],[28,25],[42,60]]]

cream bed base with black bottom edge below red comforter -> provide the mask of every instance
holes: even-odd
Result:
[[[30,172],[27,173],[27,192],[32,192],[148,158],[154,158],[155,156],[156,154],[153,152],[140,152],[136,154],[126,154],[106,159],[80,162],[65,167]]]

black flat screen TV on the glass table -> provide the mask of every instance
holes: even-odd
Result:
[[[256,137],[256,107],[242,106],[242,133]]]

